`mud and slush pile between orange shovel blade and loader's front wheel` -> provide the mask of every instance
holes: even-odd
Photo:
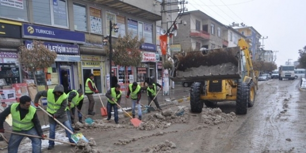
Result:
[[[171,124],[188,123],[189,109],[178,107],[175,111],[171,109],[164,110],[161,113],[155,113],[148,116],[138,127],[139,130],[165,129]]]

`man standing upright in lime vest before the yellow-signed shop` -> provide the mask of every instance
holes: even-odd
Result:
[[[89,115],[94,115],[94,93],[99,93],[99,91],[95,88],[94,85],[94,74],[90,73],[89,78],[87,78],[86,83],[85,83],[85,95],[88,98],[88,114]]]

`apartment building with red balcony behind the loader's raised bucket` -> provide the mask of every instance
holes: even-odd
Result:
[[[181,44],[183,50],[199,50],[227,47],[229,42],[224,39],[223,32],[226,28],[221,22],[216,21],[200,10],[189,11],[181,14],[181,20],[186,21],[185,26],[180,26],[174,44]]]

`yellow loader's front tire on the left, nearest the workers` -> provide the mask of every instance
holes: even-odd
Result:
[[[190,108],[192,112],[202,112],[204,103],[200,99],[201,83],[195,82],[190,87]]]

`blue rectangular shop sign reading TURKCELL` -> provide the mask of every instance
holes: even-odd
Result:
[[[85,33],[45,26],[23,24],[23,38],[85,44]]]

